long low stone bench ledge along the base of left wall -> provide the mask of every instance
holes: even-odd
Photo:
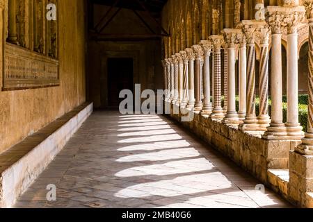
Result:
[[[93,112],[84,103],[0,155],[0,207],[12,207]]]

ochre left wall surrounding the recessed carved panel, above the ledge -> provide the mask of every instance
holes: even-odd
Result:
[[[6,3],[0,1],[0,51],[6,44]],[[0,152],[86,101],[84,1],[62,0],[57,10],[61,83],[56,87],[0,91]],[[2,64],[3,54],[0,56]],[[3,67],[0,70],[2,88]]]

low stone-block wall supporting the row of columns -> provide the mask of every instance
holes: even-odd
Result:
[[[188,128],[192,133],[201,137],[221,153],[230,157],[240,167],[250,172],[264,185],[271,186],[268,181],[269,169],[288,169],[289,152],[300,143],[298,140],[271,141],[261,136],[250,135],[234,126],[227,126],[207,115],[199,114],[188,109],[182,109],[179,114],[177,105],[171,105],[170,117]],[[191,121],[181,121],[182,113],[187,113]]]

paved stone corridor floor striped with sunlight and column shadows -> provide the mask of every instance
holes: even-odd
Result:
[[[291,207],[165,117],[95,112],[15,207]],[[47,201],[56,185],[56,201]]]

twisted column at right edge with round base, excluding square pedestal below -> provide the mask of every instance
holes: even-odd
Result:
[[[313,155],[313,8],[308,5],[310,10],[309,19],[309,103],[307,115],[307,133],[302,139],[302,143],[296,147],[296,152],[303,155]]]

